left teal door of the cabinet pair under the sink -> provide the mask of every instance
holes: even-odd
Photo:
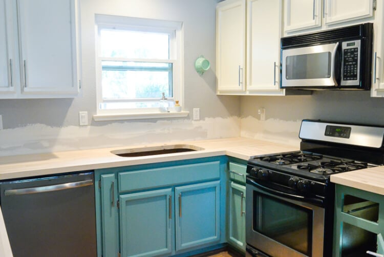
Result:
[[[174,230],[172,194],[169,188],[120,195],[123,257],[170,255]]]

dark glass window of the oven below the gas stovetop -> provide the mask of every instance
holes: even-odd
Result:
[[[311,209],[253,192],[253,230],[307,256],[312,255]]]

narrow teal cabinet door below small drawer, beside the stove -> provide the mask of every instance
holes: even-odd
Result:
[[[228,243],[245,251],[245,186],[230,183],[229,186]]]

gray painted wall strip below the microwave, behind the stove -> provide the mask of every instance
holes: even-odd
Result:
[[[242,96],[241,116],[296,121],[304,118],[384,126],[384,99],[370,97],[369,91],[313,91],[301,96]]]

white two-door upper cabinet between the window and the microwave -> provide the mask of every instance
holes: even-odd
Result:
[[[217,93],[284,95],[279,85],[282,1],[226,0],[216,12]]]

